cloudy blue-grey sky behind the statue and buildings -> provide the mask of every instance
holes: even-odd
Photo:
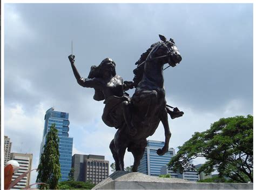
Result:
[[[94,90],[77,84],[71,40],[82,76],[111,57],[132,80],[134,63],[159,34],[173,38],[183,57],[164,71],[167,103],[185,112],[169,120],[170,147],[178,151],[219,118],[253,114],[252,4],[5,4],[4,135],[12,152],[32,153],[37,168],[44,114],[54,107],[69,113],[73,154],[113,162],[116,130],[101,120],[104,104],[92,99]],[[163,141],[163,126],[148,139]],[[132,163],[126,153],[125,166]]]

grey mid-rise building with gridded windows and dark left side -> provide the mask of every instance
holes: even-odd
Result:
[[[98,184],[109,176],[109,161],[104,155],[83,155],[74,154],[72,157],[72,167],[75,169],[75,181],[91,181]]]

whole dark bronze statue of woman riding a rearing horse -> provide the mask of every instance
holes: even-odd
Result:
[[[105,58],[99,66],[92,66],[87,78],[80,77],[74,64],[75,56],[69,56],[78,84],[95,89],[93,99],[104,100],[102,120],[107,126],[117,128],[110,143],[116,171],[124,171],[127,148],[134,157],[132,171],[137,172],[147,145],[146,138],[154,134],[160,121],[164,126],[165,145],[157,150],[157,154],[164,155],[171,137],[167,113],[172,119],[184,114],[177,107],[166,104],[163,77],[164,64],[174,67],[180,63],[181,56],[173,39],[159,37],[161,41],[152,44],[136,62],[133,82],[123,82],[123,78],[116,74],[116,63],[110,58]],[[133,87],[136,91],[130,98],[125,91]]]

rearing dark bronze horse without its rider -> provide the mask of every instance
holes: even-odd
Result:
[[[116,170],[124,170],[124,154],[127,148],[134,157],[132,171],[137,172],[147,145],[146,138],[154,134],[160,121],[164,126],[165,145],[157,150],[157,154],[164,155],[168,151],[171,137],[167,113],[173,118],[183,115],[177,108],[171,112],[166,106],[163,76],[164,64],[169,63],[174,67],[181,61],[181,56],[172,39],[159,36],[162,42],[151,45],[140,57],[136,63],[138,67],[133,71],[136,91],[131,100],[132,123],[138,132],[131,136],[124,128],[120,128],[114,135],[110,149],[116,162]]]

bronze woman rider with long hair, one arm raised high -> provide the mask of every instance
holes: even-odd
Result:
[[[92,66],[88,78],[80,77],[76,66],[75,56],[69,60],[77,83],[83,87],[95,89],[93,99],[105,100],[102,120],[107,126],[120,128],[124,122],[131,135],[137,133],[131,123],[130,97],[126,90],[133,88],[132,82],[123,82],[123,78],[116,74],[116,63],[110,58],[103,59],[99,66]]]

